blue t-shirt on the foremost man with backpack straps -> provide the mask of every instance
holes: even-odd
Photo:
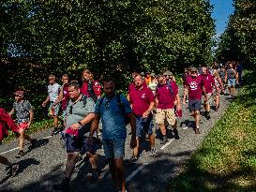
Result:
[[[95,113],[99,114],[102,121],[102,139],[114,140],[114,139],[126,139],[127,129],[125,122],[125,114],[131,112],[128,99],[121,95],[120,101],[123,109],[118,105],[116,96],[113,98],[103,97],[103,100],[99,106],[99,102],[102,98],[98,99],[95,107]]]

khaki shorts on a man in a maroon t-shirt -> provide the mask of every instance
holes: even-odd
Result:
[[[174,126],[176,122],[175,114],[173,109],[168,109],[168,110],[160,110],[157,109],[157,114],[156,114],[156,123],[158,125],[164,124],[164,120],[167,120],[168,124],[170,126]]]

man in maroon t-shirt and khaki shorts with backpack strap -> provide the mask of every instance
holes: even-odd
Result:
[[[162,134],[161,144],[165,144],[168,139],[166,136],[166,127],[164,125],[165,119],[169,125],[173,126],[174,137],[176,140],[179,139],[177,130],[177,121],[174,114],[174,102],[177,100],[177,110],[181,110],[180,98],[178,95],[178,86],[175,81],[167,82],[164,75],[158,78],[158,88],[156,92],[156,123],[160,127]]]

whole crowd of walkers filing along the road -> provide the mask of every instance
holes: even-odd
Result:
[[[117,191],[125,192],[126,179],[123,159],[127,139],[127,125],[130,126],[130,163],[137,163],[140,156],[142,140],[150,143],[150,156],[157,154],[155,146],[154,122],[161,133],[160,143],[168,142],[167,126],[173,126],[174,139],[179,140],[177,117],[182,116],[182,103],[187,105],[190,115],[195,120],[195,134],[200,134],[200,111],[203,101],[205,118],[209,120],[210,105],[215,101],[215,111],[219,108],[219,96],[225,93],[228,84],[230,95],[234,95],[235,83],[241,82],[241,64],[234,66],[228,62],[225,66],[188,67],[182,74],[183,97],[173,73],[165,71],[159,75],[154,72],[132,73],[133,81],[128,86],[128,96],[117,93],[116,81],[112,77],[104,77],[102,86],[94,80],[93,73],[83,71],[83,85],[78,81],[70,81],[68,74],[61,77],[59,85],[54,75],[49,76],[48,95],[42,106],[49,105],[49,115],[53,117],[52,135],[61,132],[66,143],[67,163],[65,176],[53,189],[68,191],[71,175],[81,155],[86,154],[92,167],[92,180],[98,180],[97,142],[94,138],[101,135],[105,157],[108,159],[113,183]],[[101,93],[103,90],[104,94]],[[24,100],[24,92],[15,92],[15,102],[9,114],[0,111],[1,131],[7,133],[7,126],[16,133],[19,140],[17,158],[25,155],[24,140],[29,140],[31,148],[35,148],[36,139],[25,134],[33,121],[33,108]],[[62,114],[60,115],[60,111]],[[16,113],[16,125],[10,116]],[[61,122],[62,127],[59,126]],[[5,127],[5,129],[3,128]],[[63,128],[64,127],[64,128]],[[0,139],[6,135],[0,135]],[[15,174],[18,166],[12,165],[7,158],[0,155],[0,162],[8,165]]]

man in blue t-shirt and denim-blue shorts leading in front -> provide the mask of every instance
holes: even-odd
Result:
[[[115,93],[115,83],[112,78],[103,81],[103,91],[106,96],[99,98],[95,119],[90,131],[90,142],[102,121],[102,143],[104,153],[109,162],[113,183],[117,191],[126,191],[126,179],[123,158],[127,137],[126,122],[131,126],[130,147],[135,147],[135,118],[125,96]]]

